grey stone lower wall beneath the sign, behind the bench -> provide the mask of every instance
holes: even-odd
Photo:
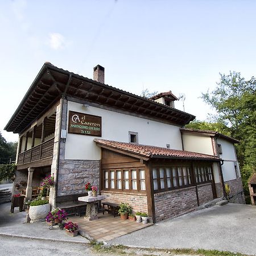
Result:
[[[100,185],[100,161],[60,160],[57,196],[85,193],[85,184]]]

